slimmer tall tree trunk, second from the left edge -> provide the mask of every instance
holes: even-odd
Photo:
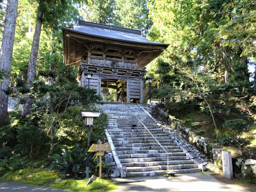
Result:
[[[41,1],[40,1],[41,3]],[[29,68],[27,69],[27,80],[26,80],[26,86],[28,88],[31,88],[31,84],[35,78],[35,68],[37,64],[37,55],[38,55],[38,48],[39,48],[39,41],[40,41],[40,33],[41,33],[41,28],[42,28],[42,20],[43,20],[43,12],[41,10],[41,4],[39,4],[37,8],[37,21],[35,24],[35,33],[33,37],[33,44],[32,44],[32,49],[31,49],[31,54],[30,54],[30,59],[29,59]],[[22,108],[22,114],[27,115],[30,111],[31,108],[31,98],[25,94],[25,103]]]

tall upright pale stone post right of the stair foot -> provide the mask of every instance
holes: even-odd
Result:
[[[231,161],[231,152],[221,151],[221,154],[222,154],[223,175],[227,179],[233,179],[233,167],[232,167],[232,161]]]

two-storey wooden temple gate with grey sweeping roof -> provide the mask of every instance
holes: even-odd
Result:
[[[80,86],[116,90],[117,102],[143,103],[145,66],[169,44],[149,41],[143,31],[78,20],[63,28],[64,63],[80,66]],[[91,79],[86,78],[88,72]],[[90,83],[89,83],[90,80]]]

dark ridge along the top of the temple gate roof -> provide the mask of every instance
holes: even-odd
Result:
[[[87,25],[87,26],[93,26],[93,27],[101,27],[101,28],[105,28],[105,29],[112,29],[112,30],[118,30],[118,31],[126,31],[126,32],[129,32],[129,33],[136,33],[136,34],[142,35],[140,29],[130,29],[130,28],[119,27],[119,26],[114,26],[114,25],[106,25],[106,24],[102,24],[102,23],[94,23],[94,22],[89,22],[89,21],[85,21],[85,20],[82,20],[82,19],[78,19],[78,25]]]

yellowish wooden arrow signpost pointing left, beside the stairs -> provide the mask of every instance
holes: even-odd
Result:
[[[99,156],[99,178],[101,178],[102,156],[104,155],[102,151],[110,151],[110,144],[109,143],[102,144],[102,141],[99,140],[99,144],[92,144],[88,150],[88,152],[95,152],[95,151],[98,151],[96,153],[96,156]]]

